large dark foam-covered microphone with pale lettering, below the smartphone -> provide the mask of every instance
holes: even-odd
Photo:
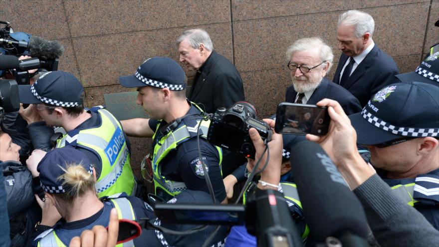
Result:
[[[303,213],[317,242],[335,237],[349,242],[343,246],[367,246],[363,207],[320,145],[299,142],[290,156]],[[357,242],[353,243],[353,239]]]

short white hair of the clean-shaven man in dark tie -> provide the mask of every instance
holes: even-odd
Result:
[[[352,25],[355,27],[354,35],[359,38],[366,32],[370,33],[370,37],[374,34],[375,21],[372,16],[366,12],[356,9],[346,11],[338,17],[338,26],[341,24]]]

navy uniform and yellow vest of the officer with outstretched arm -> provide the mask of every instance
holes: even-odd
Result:
[[[189,103],[189,102],[188,102]],[[198,152],[197,132],[200,126],[200,149],[202,160],[207,165],[209,177],[218,201],[225,199],[225,189],[221,176],[221,149],[206,141],[210,120],[204,120],[201,110],[191,104],[186,116],[175,123],[164,120],[150,120],[155,131],[153,136],[152,168],[156,195],[170,200],[180,192],[190,189],[209,193],[204,178],[204,170]]]

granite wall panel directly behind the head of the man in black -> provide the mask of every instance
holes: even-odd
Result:
[[[232,59],[230,24],[200,27],[211,33],[215,49]],[[118,84],[120,75],[133,74],[143,61],[152,56],[169,56],[178,61],[175,40],[185,29],[179,27],[73,38],[75,50],[80,51],[76,56],[84,86]],[[187,72],[188,76],[194,76],[194,72]]]

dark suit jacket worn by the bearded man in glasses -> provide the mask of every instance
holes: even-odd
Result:
[[[294,103],[296,95],[297,92],[294,90],[294,87],[289,86],[286,90],[285,101]],[[360,102],[358,102],[358,99],[355,98],[354,95],[352,95],[342,86],[335,84],[327,78],[323,78],[320,86],[314,90],[314,93],[312,93],[306,104],[314,105],[324,98],[338,101],[347,115],[361,111]]]

